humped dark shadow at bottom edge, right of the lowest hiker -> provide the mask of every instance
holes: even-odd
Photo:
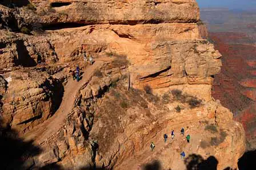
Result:
[[[184,160],[187,170],[217,170],[218,160],[214,156],[206,160],[201,155],[191,154]]]

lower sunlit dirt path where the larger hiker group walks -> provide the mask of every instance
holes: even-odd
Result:
[[[167,142],[164,143],[163,134],[170,132],[172,128],[175,131],[174,139],[171,139],[169,133],[167,134]],[[201,139],[201,134],[197,135],[193,132],[193,140],[191,140],[190,143],[187,143],[186,135],[182,136],[179,134],[180,129],[180,126],[175,127],[168,125],[165,129],[159,131],[153,139],[149,140],[149,142],[153,141],[155,143],[153,152],[150,150],[150,143],[148,143],[141,151],[137,152],[130,159],[124,161],[121,165],[117,165],[114,169],[143,169],[143,165],[153,163],[154,160],[160,161],[163,166],[167,163],[175,170],[186,169],[184,161],[180,158],[181,151],[185,151],[186,156],[192,153],[197,153],[197,145],[198,141]],[[194,128],[193,130],[185,130],[185,134],[191,134],[192,131],[194,131]],[[176,158],[175,160],[174,157]]]

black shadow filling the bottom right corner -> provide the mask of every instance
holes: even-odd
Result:
[[[249,170],[256,168],[256,150],[248,151],[238,160],[239,170]]]

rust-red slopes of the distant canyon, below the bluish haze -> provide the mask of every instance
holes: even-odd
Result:
[[[215,77],[212,94],[233,111],[246,130],[248,148],[256,148],[256,47],[246,34],[211,32],[222,54],[222,71]]]

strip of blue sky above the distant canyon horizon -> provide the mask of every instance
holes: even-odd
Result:
[[[256,9],[256,0],[197,0],[199,7],[224,7],[229,9]]]

